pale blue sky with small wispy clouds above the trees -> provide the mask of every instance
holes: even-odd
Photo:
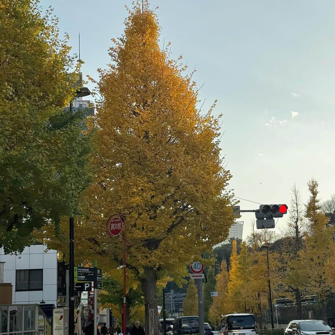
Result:
[[[124,31],[125,0],[41,0],[59,17],[61,35],[85,62],[84,75],[98,80],[107,68],[111,39]],[[160,45],[172,58],[196,67],[200,98],[218,100],[220,147],[241,209],[290,204],[295,183],[308,200],[307,182],[319,182],[320,198],[335,193],[335,1],[155,0]],[[94,85],[89,83],[89,88]],[[244,213],[243,237],[251,231]],[[288,217],[277,221],[280,233]]]

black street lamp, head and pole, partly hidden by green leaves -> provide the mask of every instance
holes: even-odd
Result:
[[[87,96],[91,92],[87,87],[76,91],[77,96]],[[73,113],[73,103],[70,102],[70,112]],[[69,222],[69,335],[74,335],[74,219]],[[96,308],[96,306],[94,306]]]

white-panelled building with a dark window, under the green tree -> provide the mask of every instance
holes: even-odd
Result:
[[[20,255],[5,255],[4,283],[12,283],[13,304],[54,304],[57,307],[57,251],[44,245],[25,247]],[[1,297],[0,297],[1,304]]]

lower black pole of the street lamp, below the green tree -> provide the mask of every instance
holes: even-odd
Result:
[[[70,217],[69,245],[69,334],[74,334],[74,222]]]

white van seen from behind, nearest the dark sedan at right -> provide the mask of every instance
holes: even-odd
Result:
[[[227,314],[222,317],[219,335],[257,335],[253,314]]]

